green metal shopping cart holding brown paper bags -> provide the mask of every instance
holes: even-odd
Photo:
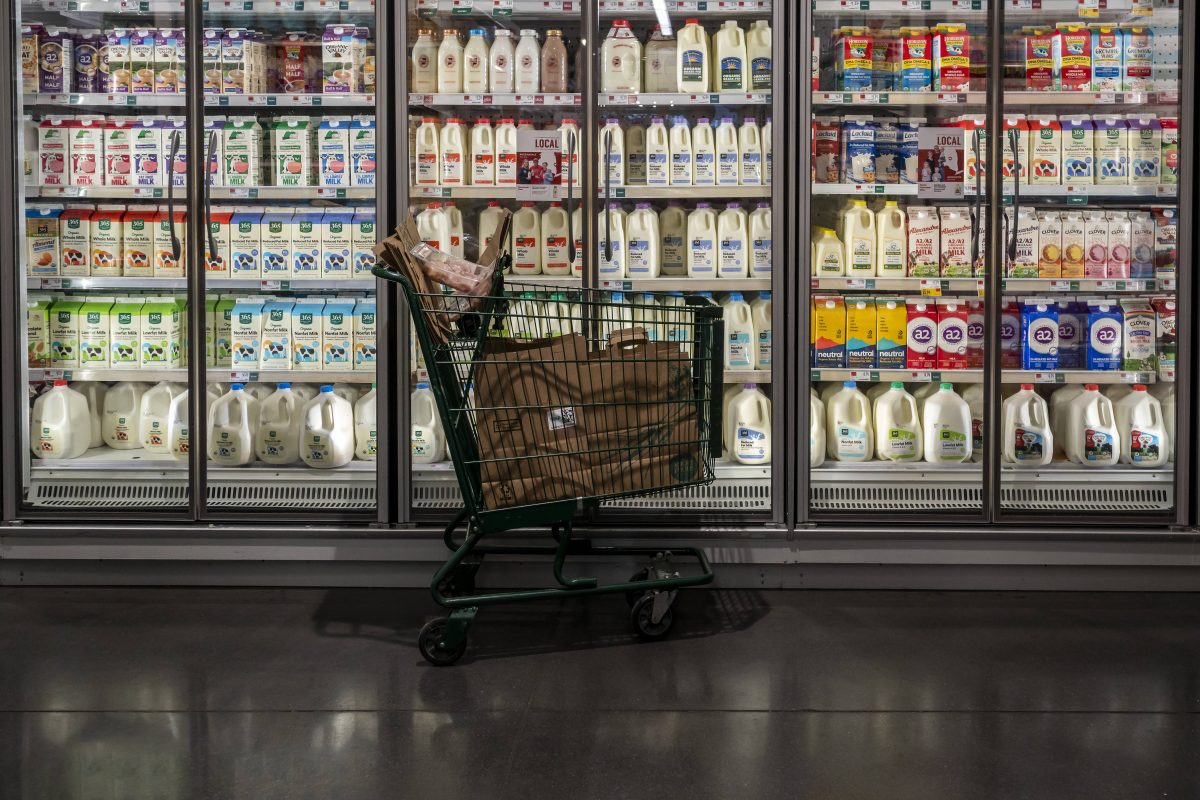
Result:
[[[684,587],[713,571],[690,547],[616,547],[572,536],[582,504],[710,483],[720,452],[724,368],[721,313],[698,297],[613,302],[607,291],[558,285],[505,287],[497,264],[491,288],[462,295],[400,283],[425,356],[463,509],[446,527],[452,555],[433,577],[449,615],[420,634],[421,655],[451,664],[484,606],[622,593],[644,639],[671,630]],[[456,531],[466,524],[466,536]],[[546,546],[484,545],[494,534],[548,527]],[[492,539],[494,541],[494,537]],[[551,555],[557,587],[475,589],[487,555]],[[629,581],[568,577],[568,557],[644,559]],[[680,572],[676,560],[697,569]]]

